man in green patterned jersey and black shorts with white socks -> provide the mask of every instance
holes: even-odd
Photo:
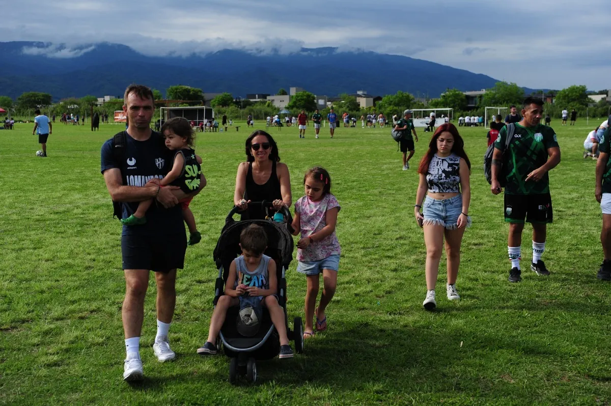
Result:
[[[499,178],[505,178],[505,221],[510,223],[507,247],[511,261],[510,282],[522,280],[520,259],[525,221],[533,227],[530,269],[537,275],[549,275],[549,270],[541,261],[547,223],[553,219],[547,172],[560,163],[560,147],[554,130],[540,123],[542,115],[543,101],[526,98],[522,106],[522,120],[513,124],[515,131],[507,151],[507,126],[500,130],[494,143],[491,190],[495,195],[502,192]]]

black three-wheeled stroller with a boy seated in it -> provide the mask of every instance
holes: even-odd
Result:
[[[267,210],[271,208],[271,203],[266,201],[254,202],[250,205],[262,205]],[[287,316],[287,280],[285,278],[288,265],[293,259],[293,236],[291,235],[291,223],[293,222],[290,212],[287,208],[282,209],[284,215],[283,222],[275,222],[273,220],[244,220],[236,222],[233,220],[233,215],[238,212],[238,208],[234,207],[227,218],[225,226],[221,232],[221,237],[214,248],[214,262],[218,267],[219,275],[214,286],[214,306],[219,300],[219,297],[224,294],[225,282],[229,276],[229,265],[238,255],[240,250],[240,233],[252,223],[256,223],[265,229],[268,235],[268,248],[265,255],[270,256],[276,261],[277,281],[279,304],[284,309],[285,323],[287,324],[287,335],[290,341],[295,341],[295,352],[303,353],[303,323],[301,317],[295,317],[293,320],[293,330],[288,326]],[[227,317],[221,327],[221,332],[216,339],[216,347],[225,351],[227,357],[232,358],[229,365],[229,382],[234,383],[238,374],[246,375],[251,382],[257,380],[257,360],[269,360],[276,357],[280,353],[280,339],[276,329],[274,328],[269,312],[264,309],[261,326],[258,333],[252,337],[245,337],[238,333],[236,327],[236,317],[238,317],[239,309],[237,307],[229,308]]]

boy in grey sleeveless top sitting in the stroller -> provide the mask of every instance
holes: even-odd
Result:
[[[227,310],[231,306],[239,305],[241,320],[238,325],[246,327],[243,328],[246,331],[262,319],[263,306],[268,308],[269,316],[280,338],[279,358],[293,357],[293,350],[288,344],[284,310],[279,305],[276,295],[276,262],[263,254],[267,245],[268,237],[260,225],[251,224],[240,233],[242,255],[234,259],[229,267],[225,294],[219,297],[214,308],[208,339],[203,347],[197,349],[198,354],[214,355],[218,352],[214,343],[225,322]],[[229,286],[233,286],[233,289]]]

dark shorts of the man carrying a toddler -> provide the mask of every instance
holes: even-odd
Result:
[[[182,269],[186,249],[185,233],[121,236],[123,269],[148,269],[154,272]]]

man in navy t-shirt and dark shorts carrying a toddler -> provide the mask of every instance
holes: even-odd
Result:
[[[120,201],[122,217],[136,211],[138,202],[154,198],[156,205],[147,211],[144,225],[123,225],[121,252],[125,274],[125,300],[122,319],[127,356],[123,379],[143,377],[140,358],[140,335],[144,319],[144,298],[149,272],[155,272],[157,284],[157,335],[153,351],[159,361],[174,360],[167,334],[176,303],[176,270],[185,261],[186,233],[178,200],[178,186],[147,186],[150,179],[161,179],[172,167],[173,155],[164,146],[163,136],[152,131],[150,122],[155,111],[153,92],[146,86],[130,85],[125,90],[123,111],[129,126],[125,131],[125,154],[117,159],[114,139],[101,149],[101,172],[113,201]],[[205,186],[200,180],[197,194]]]

